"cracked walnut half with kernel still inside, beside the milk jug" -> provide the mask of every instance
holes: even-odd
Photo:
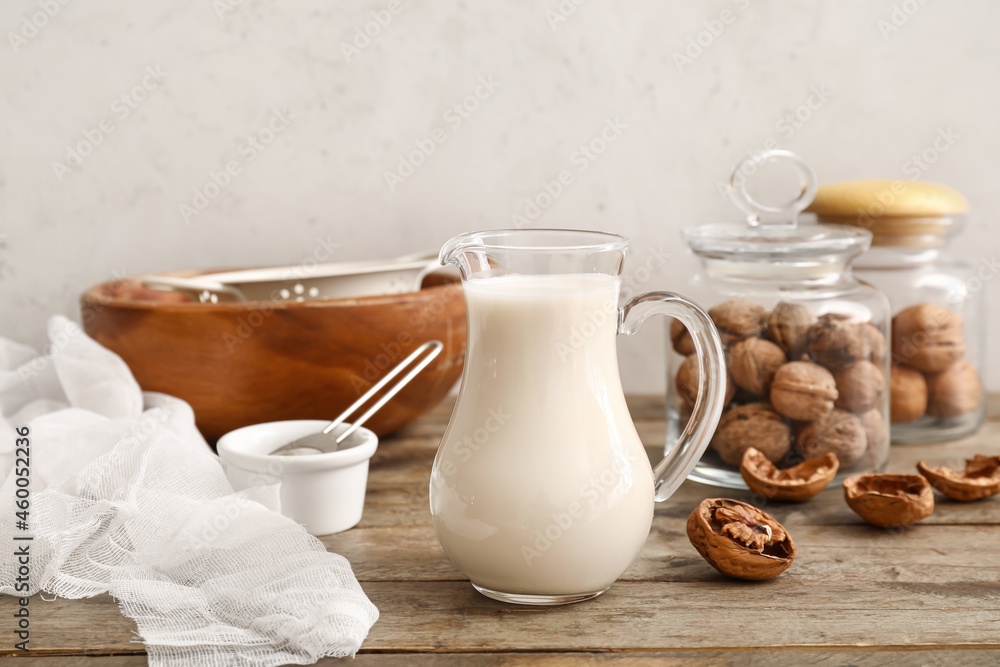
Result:
[[[709,565],[736,579],[771,579],[795,560],[788,531],[771,515],[738,500],[703,500],[688,517],[687,534]]]

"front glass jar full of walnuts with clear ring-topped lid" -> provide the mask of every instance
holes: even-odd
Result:
[[[802,179],[787,206],[756,202],[747,174],[785,161]],[[816,176],[801,158],[768,151],[739,165],[729,192],[745,221],[683,231],[701,270],[679,291],[708,308],[726,347],[728,405],[689,479],[746,488],[747,449],[777,468],[828,453],[839,477],[884,468],[889,454],[889,304],[851,262],[871,243],[853,226],[802,223]],[[697,357],[682,324],[668,344],[667,447],[687,423]]]

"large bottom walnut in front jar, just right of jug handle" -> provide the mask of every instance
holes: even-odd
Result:
[[[750,447],[756,447],[772,462],[780,461],[792,448],[791,428],[767,403],[730,408],[722,415],[712,438],[712,448],[734,466],[740,464]]]

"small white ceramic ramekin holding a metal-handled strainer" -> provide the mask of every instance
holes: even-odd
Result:
[[[217,445],[229,483],[240,491],[276,478],[281,482],[281,513],[311,534],[329,535],[353,528],[361,521],[368,460],[378,448],[378,436],[359,428],[335,452],[270,455],[293,440],[319,433],[329,423],[300,419],[230,431],[219,438]],[[348,427],[350,424],[341,424],[331,436],[336,437]]]

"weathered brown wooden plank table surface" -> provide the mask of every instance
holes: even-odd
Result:
[[[651,457],[662,448],[662,399],[633,397]],[[386,439],[372,461],[361,524],[323,538],[346,556],[381,613],[358,654],[369,665],[998,665],[1000,496],[960,504],[897,531],[874,528],[830,488],[803,505],[766,509],[799,555],[767,582],[716,573],[684,523],[703,498],[749,494],[686,483],[656,508],[645,548],[601,597],[576,605],[507,605],[476,593],[438,545],[427,484],[451,404]],[[1000,395],[974,437],[892,449],[889,470],[921,459],[958,463],[1000,453]],[[13,599],[0,600],[10,619]],[[135,625],[108,596],[31,604],[23,665],[146,664]],[[10,626],[4,626],[10,627]],[[327,659],[323,665],[334,664]]]

